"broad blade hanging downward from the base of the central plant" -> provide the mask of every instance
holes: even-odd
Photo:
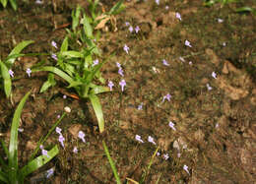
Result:
[[[99,133],[102,133],[104,131],[104,118],[103,118],[103,112],[102,112],[100,101],[95,94],[90,94],[89,98],[93,104],[93,107],[94,107],[94,110],[96,113],[96,119],[97,119],[97,124],[98,124],[98,128],[99,128]]]

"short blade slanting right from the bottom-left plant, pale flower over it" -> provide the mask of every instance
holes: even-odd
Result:
[[[42,165],[46,164],[50,161],[55,155],[59,153],[59,149],[57,146],[53,147],[50,151],[48,151],[48,155],[39,155],[30,161],[27,165],[25,165],[19,172],[19,177],[22,179],[27,175],[32,173],[34,170],[38,169]]]

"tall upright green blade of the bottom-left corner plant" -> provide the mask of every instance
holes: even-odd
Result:
[[[8,163],[9,168],[12,168],[9,173],[9,178],[12,181],[17,179],[17,170],[18,170],[18,128],[20,124],[21,114],[24,107],[24,104],[29,97],[31,92],[27,92],[26,95],[20,101],[18,107],[15,110],[14,118],[11,126],[11,137],[10,137],[10,145],[9,145],[9,157]]]

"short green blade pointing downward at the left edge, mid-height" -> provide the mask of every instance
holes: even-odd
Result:
[[[7,97],[9,97],[12,92],[12,80],[8,72],[8,68],[2,61],[0,61],[0,68],[1,68],[2,78],[4,79],[5,94]]]

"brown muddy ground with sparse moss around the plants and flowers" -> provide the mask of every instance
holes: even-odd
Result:
[[[61,26],[71,23],[77,3],[88,6],[86,1],[72,0],[55,6],[51,1],[42,5],[19,2],[17,12],[1,8],[1,58],[28,39],[35,43],[26,53],[56,51],[50,42],[61,44],[66,35]],[[101,8],[109,10],[115,2],[101,3]],[[160,0],[160,5],[153,0],[130,0],[125,5],[115,17],[117,31],[107,25],[97,41],[103,55],[116,52],[102,68],[106,81],[114,83],[113,92],[99,95],[105,118],[103,134],[98,133],[89,101],[63,98],[60,89],[65,84],[39,93],[47,73],[32,73],[29,78],[25,71],[49,57],[22,57],[16,62],[12,99],[0,93],[0,132],[1,139],[8,142],[15,107],[32,90],[20,127],[24,129],[19,134],[21,166],[64,106],[72,109],[59,126],[65,149],[54,132],[44,146],[57,144],[60,153],[30,175],[27,183],[51,167],[54,175],[38,183],[115,183],[102,140],[124,183],[127,177],[140,181],[157,147],[160,154],[145,183],[256,183],[256,16],[234,12],[245,5],[256,8],[255,1],[205,7],[201,0]],[[131,33],[125,22],[133,28],[139,26],[140,31]],[[130,48],[128,54],[124,44]],[[122,65],[124,77],[118,74],[116,62]],[[124,92],[118,85],[121,79],[127,83]],[[170,100],[163,101],[168,93]],[[175,130],[168,126],[169,121]],[[79,130],[86,133],[86,144],[78,139]],[[136,135],[144,143],[136,141]],[[148,142],[149,136],[156,145]],[[78,153],[73,153],[74,147]]]

